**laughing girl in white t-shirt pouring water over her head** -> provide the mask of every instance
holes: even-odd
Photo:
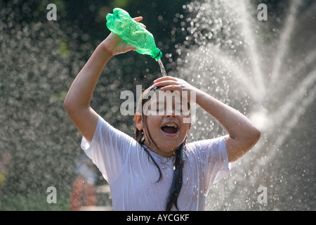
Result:
[[[90,101],[108,60],[131,50],[136,47],[111,33],[70,86],[64,106],[83,135],[81,148],[110,184],[114,210],[204,210],[211,185],[234,170],[232,162],[256,144],[260,131],[242,113],[176,77],[156,79],[143,92],[136,140],[115,129]],[[190,103],[206,110],[228,135],[186,143]]]

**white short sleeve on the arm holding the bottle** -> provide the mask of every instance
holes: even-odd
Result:
[[[81,148],[109,184],[117,179],[129,150],[136,145],[135,139],[112,127],[102,117],[99,117],[91,143],[84,136],[81,140]]]

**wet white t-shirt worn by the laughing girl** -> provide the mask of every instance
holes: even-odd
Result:
[[[173,160],[168,161],[149,150],[159,166],[161,161],[166,162],[166,168],[161,169],[162,180],[158,181],[159,171],[143,147],[102,117],[99,117],[91,143],[83,137],[81,148],[110,184],[114,210],[166,210],[173,179]],[[234,171],[235,163],[228,163],[225,136],[187,143],[185,153],[178,208],[204,210],[209,188]]]

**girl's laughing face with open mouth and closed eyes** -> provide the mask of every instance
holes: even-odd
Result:
[[[155,91],[143,105],[143,120],[136,117],[136,127],[145,133],[145,146],[164,157],[173,155],[190,130],[187,99],[177,91]]]

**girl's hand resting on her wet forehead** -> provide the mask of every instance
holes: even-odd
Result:
[[[179,91],[181,95],[185,94],[189,102],[195,102],[197,91],[199,91],[195,86],[177,77],[160,77],[154,80],[154,85],[160,86],[162,91]]]

